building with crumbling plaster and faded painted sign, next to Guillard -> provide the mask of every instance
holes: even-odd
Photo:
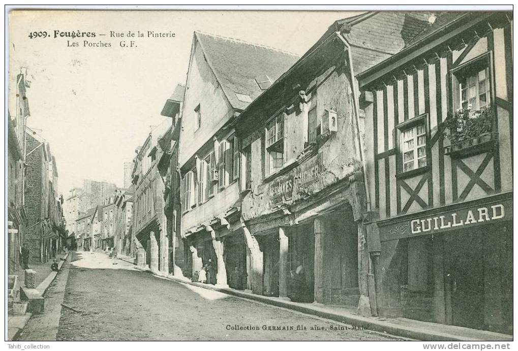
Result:
[[[233,123],[241,227],[258,244],[249,253],[254,293],[371,315],[363,121],[349,58],[328,31]]]

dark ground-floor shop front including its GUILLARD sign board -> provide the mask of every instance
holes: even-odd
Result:
[[[378,226],[382,315],[512,332],[512,193]]]

